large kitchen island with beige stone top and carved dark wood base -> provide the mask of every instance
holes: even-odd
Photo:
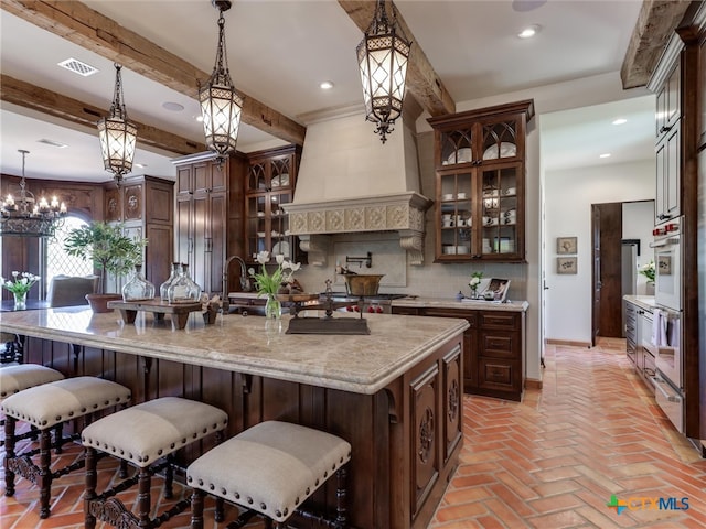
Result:
[[[427,527],[462,445],[468,323],[370,314],[370,335],[289,335],[289,317],[280,330],[233,314],[204,325],[194,313],[174,330],[145,313],[126,324],[117,312],[65,307],[2,313],[0,328],[28,337],[26,361],[124,384],[135,402],[181,396],[217,406],[229,435],[269,419],[340,435],[353,446],[352,525]],[[334,495],[325,487],[312,501],[333,506]]]

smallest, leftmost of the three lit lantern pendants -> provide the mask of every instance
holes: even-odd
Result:
[[[115,94],[110,115],[98,121],[98,137],[103,152],[103,165],[120,183],[132,171],[132,158],[137,143],[137,127],[128,120],[122,96],[122,78],[119,64],[115,64]]]

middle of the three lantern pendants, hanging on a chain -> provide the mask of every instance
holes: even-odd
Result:
[[[203,117],[206,147],[217,154],[220,163],[235,152],[240,127],[243,98],[235,91],[225,51],[225,19],[229,0],[212,0],[218,9],[218,48],[213,73],[205,86],[199,84],[199,102]]]

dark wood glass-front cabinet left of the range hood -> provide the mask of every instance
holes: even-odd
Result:
[[[248,154],[245,191],[249,261],[263,250],[298,260],[298,238],[289,235],[289,216],[281,205],[295,197],[300,149],[291,145]]]

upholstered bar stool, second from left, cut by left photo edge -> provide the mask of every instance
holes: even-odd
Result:
[[[0,409],[6,414],[4,424],[4,479],[6,496],[14,494],[15,474],[40,487],[40,518],[50,516],[52,482],[69,472],[82,468],[82,457],[64,468],[52,472],[51,430],[56,425],[90,415],[115,406],[125,406],[130,401],[130,390],[125,386],[96,377],[75,377],[43,384],[24,389],[2,401]],[[39,430],[40,446],[22,454],[15,453],[17,421],[29,422]],[[62,439],[54,444],[61,445]],[[32,457],[39,453],[39,465]]]

